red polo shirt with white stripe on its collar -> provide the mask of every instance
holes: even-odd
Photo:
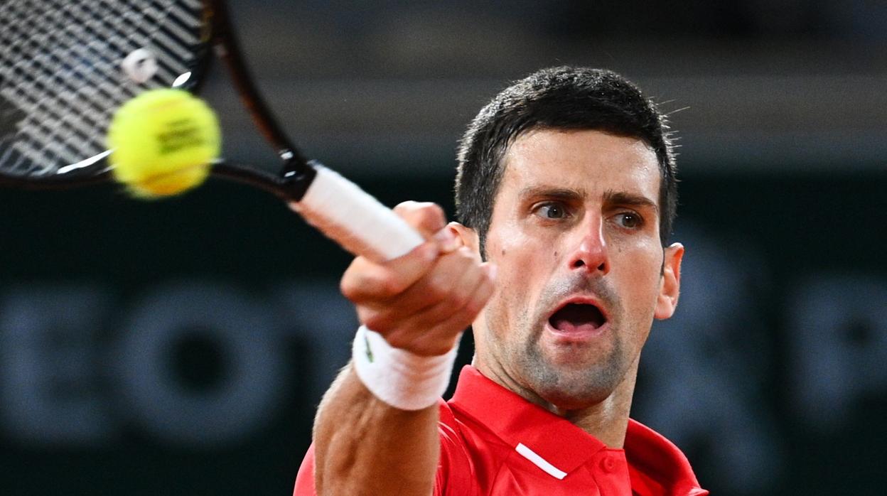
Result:
[[[472,366],[440,403],[435,494],[702,496],[684,453],[629,420],[624,449],[611,449],[563,418],[487,379]],[[295,496],[314,494],[314,449]]]

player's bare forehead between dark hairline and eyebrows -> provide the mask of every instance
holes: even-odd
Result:
[[[502,163],[497,199],[553,187],[593,196],[632,193],[659,204],[659,163],[638,138],[600,130],[533,130],[514,140]]]

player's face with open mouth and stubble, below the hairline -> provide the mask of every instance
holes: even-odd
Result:
[[[683,248],[660,242],[655,153],[596,130],[535,130],[503,164],[486,240],[497,290],[475,321],[475,363],[537,403],[600,403],[633,384],[653,319],[677,303]]]

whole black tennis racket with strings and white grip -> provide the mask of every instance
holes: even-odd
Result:
[[[155,88],[198,93],[216,58],[279,160],[268,170],[218,159],[212,175],[278,195],[355,255],[389,260],[422,242],[394,212],[287,138],[247,71],[222,0],[3,0],[0,185],[111,180],[105,137],[115,110]]]

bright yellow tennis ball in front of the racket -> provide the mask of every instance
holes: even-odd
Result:
[[[219,154],[216,114],[184,90],[145,91],[124,103],[108,128],[114,179],[141,198],[200,185]]]

